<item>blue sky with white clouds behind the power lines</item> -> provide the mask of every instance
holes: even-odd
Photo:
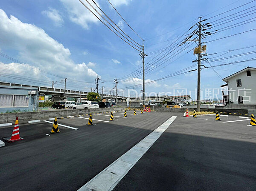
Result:
[[[142,40],[131,31],[122,18],[111,8],[107,0],[97,0],[96,2],[115,23],[118,23],[118,26],[125,33],[142,44]],[[206,19],[250,1],[111,0],[111,2],[137,34],[145,39],[145,53],[148,54],[169,46],[175,38],[195,24],[198,16],[206,15],[203,17]],[[256,6],[256,2],[214,17],[209,21],[218,20],[252,6]],[[253,17],[256,17],[255,14],[216,26],[215,29]],[[54,80],[58,82],[55,87],[64,87],[60,80],[63,80],[62,77],[66,77],[68,79],[67,88],[90,91],[91,87],[95,89],[94,80],[99,76],[101,79],[99,91],[102,92],[102,86],[104,86],[104,92],[109,93],[109,91],[113,91],[113,80],[116,77],[120,79],[119,95],[122,94],[123,90],[125,91],[124,94],[127,95],[126,87],[142,82],[140,75],[130,79],[123,78],[141,67],[142,61],[139,52],[128,46],[99,22],[79,0],[3,1],[0,5],[0,23],[0,52],[21,61],[21,63],[26,63],[20,64],[15,60],[0,56],[1,81],[51,86],[51,81]],[[251,22],[213,34],[212,37],[207,37],[204,42],[254,28],[255,22]],[[207,52],[212,54],[254,46],[255,34],[256,31],[251,31],[206,43]],[[163,42],[166,40],[169,41]],[[191,46],[185,50],[186,52],[196,46],[193,42],[191,44],[187,45]],[[220,57],[254,51],[254,49],[255,47],[232,51]],[[185,51],[166,64],[146,73],[146,82],[191,66],[192,60],[196,60],[196,57],[192,51],[184,54]],[[148,54],[148,57],[145,58],[145,64],[156,55]],[[216,56],[219,55],[221,54],[216,54]],[[209,55],[207,57],[214,56]],[[223,61],[230,63],[252,57],[254,57],[253,54],[250,54]],[[213,62],[211,64],[213,66],[223,63]],[[204,63],[204,65],[209,66],[209,63]],[[216,67],[215,71],[224,78],[247,66],[256,66],[255,62],[239,63],[238,65]],[[163,68],[163,66],[165,67]],[[41,70],[39,71],[37,68]],[[224,84],[212,68],[203,69],[201,76],[202,89],[219,88],[220,85]],[[191,91],[192,98],[195,98],[196,86],[197,71],[193,71],[148,84],[146,85],[146,92],[173,92],[173,88],[187,88],[187,93]],[[142,86],[135,86],[134,89],[140,91]]]

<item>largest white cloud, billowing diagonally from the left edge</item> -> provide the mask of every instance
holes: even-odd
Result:
[[[97,76],[89,68],[90,63],[74,63],[69,49],[49,37],[43,29],[22,23],[12,15],[8,18],[2,9],[0,26],[0,48],[18,51],[20,60],[62,77],[93,80]],[[16,63],[15,67],[23,67],[20,65]]]

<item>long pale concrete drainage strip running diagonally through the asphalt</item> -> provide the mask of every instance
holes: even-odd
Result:
[[[129,170],[140,160],[151,145],[172,124],[177,116],[172,116],[156,128],[151,134],[141,140],[137,145],[119,157],[111,165],[101,171],[96,177],[83,185],[78,191],[111,191]]]

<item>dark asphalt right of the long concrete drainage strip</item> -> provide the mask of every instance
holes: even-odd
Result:
[[[114,191],[255,191],[256,128],[214,117],[178,117]]]

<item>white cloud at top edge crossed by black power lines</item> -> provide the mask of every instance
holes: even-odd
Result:
[[[84,29],[89,29],[90,23],[98,23],[99,20],[79,1],[76,0],[60,0],[67,12],[69,14],[69,18],[73,23],[80,25]],[[99,6],[97,0],[94,0],[95,3]],[[99,8],[93,3],[92,0],[88,0],[88,2],[97,10],[100,11]],[[94,14],[96,14],[99,18],[100,15],[92,9],[92,7],[86,2],[83,3],[92,10]],[[100,7],[100,6],[99,6]]]

